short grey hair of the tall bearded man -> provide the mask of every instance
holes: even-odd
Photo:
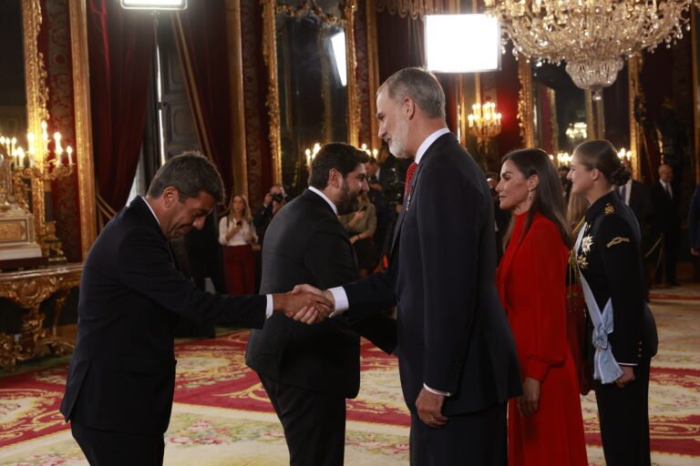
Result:
[[[396,71],[379,86],[379,95],[386,88],[395,101],[410,97],[428,118],[445,119],[445,92],[438,78],[424,68],[412,67]]]

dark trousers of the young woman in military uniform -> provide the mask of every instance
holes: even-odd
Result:
[[[634,381],[620,389],[596,380],[602,451],[608,466],[649,466],[649,363],[634,367]]]

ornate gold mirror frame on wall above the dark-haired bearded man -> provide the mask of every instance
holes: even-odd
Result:
[[[282,183],[282,147],[280,145],[280,94],[277,76],[277,40],[274,34],[275,15],[312,14],[326,23],[337,23],[345,29],[345,49],[347,60],[347,142],[353,146],[359,143],[360,106],[355,78],[355,10],[356,0],[346,0],[343,17],[325,15],[314,0],[304,0],[298,7],[277,5],[275,0],[262,2],[262,56],[267,66],[268,89],[265,105],[270,118],[270,149],[273,155],[273,183]]]

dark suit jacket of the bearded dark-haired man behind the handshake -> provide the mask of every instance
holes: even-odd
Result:
[[[299,283],[328,289],[357,279],[345,228],[323,198],[306,190],[270,222],[262,247],[261,292],[289,291]],[[396,321],[346,316],[309,326],[283,315],[252,330],[245,354],[252,370],[286,385],[345,398],[360,387],[360,333],[391,352]]]

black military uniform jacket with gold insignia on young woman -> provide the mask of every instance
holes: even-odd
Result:
[[[654,317],[643,300],[640,231],[631,208],[612,191],[586,211],[576,260],[598,307],[612,299],[613,330],[608,335],[618,363],[637,364],[656,354]],[[591,320],[589,345],[591,345]]]

